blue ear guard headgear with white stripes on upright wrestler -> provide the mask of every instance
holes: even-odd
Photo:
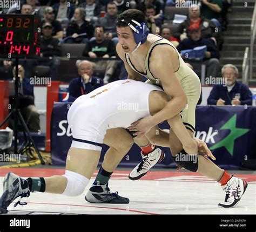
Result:
[[[121,21],[133,30],[134,40],[138,46],[146,42],[147,36],[149,35],[149,28],[146,23],[138,23],[130,18],[122,19]]]

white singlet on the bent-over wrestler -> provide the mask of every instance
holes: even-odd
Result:
[[[149,117],[149,94],[160,87],[136,80],[118,80],[77,98],[68,112],[71,147],[101,151],[107,129],[129,127]]]

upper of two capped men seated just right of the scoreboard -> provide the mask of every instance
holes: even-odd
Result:
[[[55,19],[55,14],[53,8],[51,6],[47,6],[44,9],[45,19],[43,20],[44,23],[50,23],[52,25],[52,37],[56,39],[63,38],[63,30],[60,22]]]

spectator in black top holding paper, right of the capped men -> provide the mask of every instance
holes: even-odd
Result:
[[[70,23],[66,30],[67,36],[70,37],[66,40],[66,43],[87,43],[93,36],[93,26],[85,20],[85,17],[86,12],[84,8],[77,8],[75,10],[73,22]]]

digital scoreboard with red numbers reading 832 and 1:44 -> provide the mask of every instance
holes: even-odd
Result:
[[[36,15],[0,15],[0,57],[40,56],[41,21]]]

